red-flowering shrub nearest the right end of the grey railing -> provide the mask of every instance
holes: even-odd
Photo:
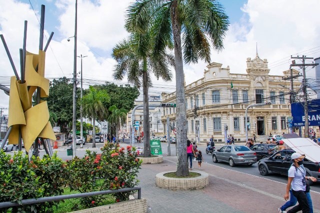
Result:
[[[120,148],[112,143],[104,144],[102,153],[86,151],[84,158],[74,158],[66,163],[70,171],[69,187],[80,193],[131,188],[137,185],[136,179],[141,161],[134,147]],[[128,200],[133,192],[116,193],[116,202]],[[86,207],[99,206],[103,195],[81,198]],[[94,201],[94,203],[92,203]]]

